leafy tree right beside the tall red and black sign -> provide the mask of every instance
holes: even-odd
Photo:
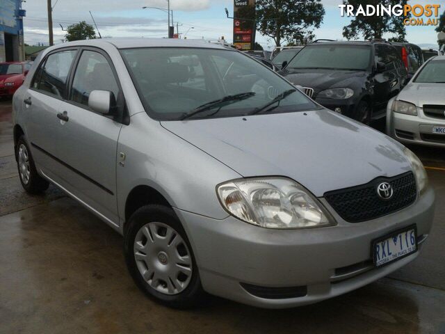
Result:
[[[257,0],[257,29],[280,47],[282,41],[303,44],[323,22],[321,0]]]

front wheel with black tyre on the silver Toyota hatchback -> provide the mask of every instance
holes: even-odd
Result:
[[[136,285],[172,308],[191,308],[204,297],[193,250],[175,212],[146,205],[127,222],[124,256]]]

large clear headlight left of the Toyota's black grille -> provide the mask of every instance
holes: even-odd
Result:
[[[263,228],[314,228],[335,222],[300,184],[284,177],[255,177],[220,184],[223,207],[241,221]]]

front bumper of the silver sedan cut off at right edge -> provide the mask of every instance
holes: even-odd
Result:
[[[388,106],[391,106],[390,102]],[[417,108],[418,116],[394,113],[387,109],[387,134],[401,143],[445,147],[445,134],[433,134],[432,127],[445,127],[445,120],[431,118]]]

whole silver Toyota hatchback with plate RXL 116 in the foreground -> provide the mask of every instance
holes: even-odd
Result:
[[[50,47],[13,105],[24,189],[56,184],[123,234],[138,287],[173,307],[321,301],[403,267],[430,233],[410,150],[221,45]]]

